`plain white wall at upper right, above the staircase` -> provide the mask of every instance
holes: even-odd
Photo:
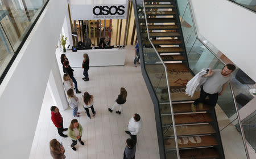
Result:
[[[256,14],[226,0],[191,0],[197,31],[256,81]]]

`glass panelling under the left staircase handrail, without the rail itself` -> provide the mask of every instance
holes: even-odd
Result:
[[[155,90],[156,97],[158,98],[160,104],[160,113],[167,114],[161,115],[160,118],[162,121],[162,133],[164,136],[164,149],[166,151],[166,158],[177,158],[176,153],[176,144],[174,137],[174,126],[172,124],[172,115],[170,109],[170,98],[168,97],[168,87],[166,80],[166,73],[164,70],[164,65],[160,61],[158,54],[152,48],[150,41],[147,37],[147,29],[146,29],[146,20],[144,16],[143,4],[142,1],[137,2],[137,11],[138,11],[138,19],[140,23],[140,33],[141,33],[141,41],[142,41],[142,50],[143,50],[143,59],[144,59],[144,67],[147,72],[148,78],[152,84],[152,87]],[[163,103],[164,102],[164,103]],[[162,145],[159,145],[162,146]],[[163,153],[163,152],[160,152]]]

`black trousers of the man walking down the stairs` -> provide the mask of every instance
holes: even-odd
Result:
[[[206,97],[209,97],[209,100],[205,100]],[[204,92],[203,86],[201,87],[200,97],[195,100],[193,103],[194,105],[197,105],[199,102],[208,104],[210,106],[216,106],[218,101],[218,93],[209,94],[207,92]]]

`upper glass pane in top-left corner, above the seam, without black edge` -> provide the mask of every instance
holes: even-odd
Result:
[[[46,2],[42,0],[1,0],[0,3],[1,12],[5,12],[1,16],[0,22],[10,40],[11,46],[16,51]]]

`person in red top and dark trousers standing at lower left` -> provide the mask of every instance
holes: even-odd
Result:
[[[62,137],[68,137],[68,135],[63,134],[63,131],[67,131],[68,128],[63,128],[63,118],[60,115],[59,108],[57,106],[51,107],[52,122],[57,127],[58,133]]]

